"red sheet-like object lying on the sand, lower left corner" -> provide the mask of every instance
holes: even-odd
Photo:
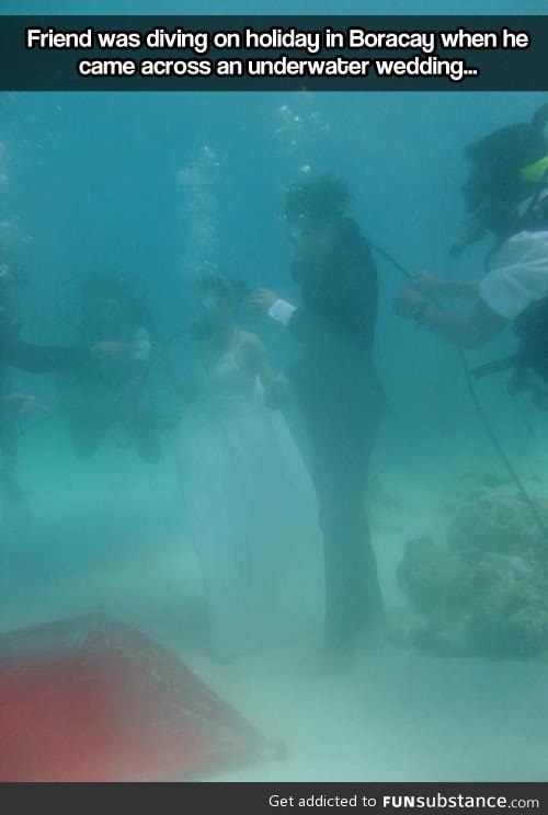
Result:
[[[269,744],[169,651],[104,617],[0,636],[0,781],[160,781]]]

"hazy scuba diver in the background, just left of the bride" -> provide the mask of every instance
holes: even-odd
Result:
[[[123,279],[101,276],[83,282],[80,309],[78,346],[89,353],[59,379],[76,454],[93,455],[105,435],[122,426],[127,446],[135,444],[145,461],[157,461],[157,417],[142,404],[155,334],[148,309]]]

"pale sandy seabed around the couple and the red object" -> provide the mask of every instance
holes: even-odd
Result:
[[[147,468],[132,451],[105,449],[79,464],[58,445],[59,434],[37,432],[32,452],[23,445],[33,531],[2,542],[0,630],[104,607],[174,651],[287,748],[283,759],[212,780],[547,779],[548,663],[442,659],[386,646],[362,652],[346,674],[317,677],[313,641],[213,663],[199,575],[180,531],[173,462]],[[410,475],[387,473],[389,502],[372,510],[390,606],[402,601],[395,570],[406,540],[427,532],[442,539],[457,489],[471,489],[463,478],[426,483]]]

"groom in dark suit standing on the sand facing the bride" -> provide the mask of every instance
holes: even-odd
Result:
[[[285,218],[296,244],[292,275],[301,305],[264,289],[250,298],[252,308],[285,324],[304,347],[287,376],[305,421],[319,503],[328,670],[344,667],[361,640],[378,641],[385,625],[366,509],[384,409],[373,361],[378,280],[369,246],[346,215],[349,197],[344,182],[330,175],[288,191]],[[282,403],[283,389],[278,379],[271,405]]]

